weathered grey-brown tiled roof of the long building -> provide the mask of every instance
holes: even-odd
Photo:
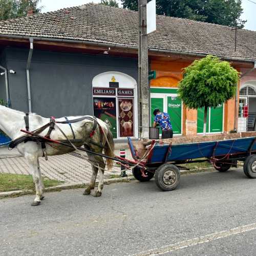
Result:
[[[87,4],[0,22],[0,35],[71,39],[126,47],[138,46],[138,12]],[[256,31],[157,15],[157,30],[148,35],[150,49],[256,59]]]

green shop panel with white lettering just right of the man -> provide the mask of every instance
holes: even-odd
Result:
[[[176,95],[167,97],[167,113],[170,116],[174,134],[181,134],[181,100]]]

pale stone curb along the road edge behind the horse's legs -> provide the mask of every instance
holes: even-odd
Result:
[[[186,174],[193,174],[193,173],[207,173],[216,171],[214,167],[210,168],[202,168],[202,169],[191,169],[191,170],[181,170],[181,175]],[[121,182],[130,182],[132,180],[135,180],[133,175],[129,175],[124,178],[113,178],[113,179],[106,179],[104,180],[104,185],[109,185],[112,183],[121,183]],[[47,187],[45,189],[46,192],[53,192],[53,191],[61,191],[64,189],[75,189],[75,188],[84,188],[85,186],[88,186],[89,183],[83,183],[83,182],[77,182],[77,183],[66,183],[57,185],[54,187]],[[95,182],[95,186],[98,185],[98,181]],[[19,197],[24,195],[33,195],[35,192],[33,190],[15,190],[15,191],[7,191],[7,192],[0,192],[0,199],[6,198],[6,197]]]

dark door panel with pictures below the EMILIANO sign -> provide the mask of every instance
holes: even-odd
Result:
[[[94,116],[104,121],[117,138],[116,131],[116,98],[95,97],[93,98]]]

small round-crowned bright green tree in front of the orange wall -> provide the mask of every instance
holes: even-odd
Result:
[[[178,94],[188,109],[204,108],[204,130],[208,107],[216,108],[236,94],[239,72],[227,61],[207,55],[184,69]]]

